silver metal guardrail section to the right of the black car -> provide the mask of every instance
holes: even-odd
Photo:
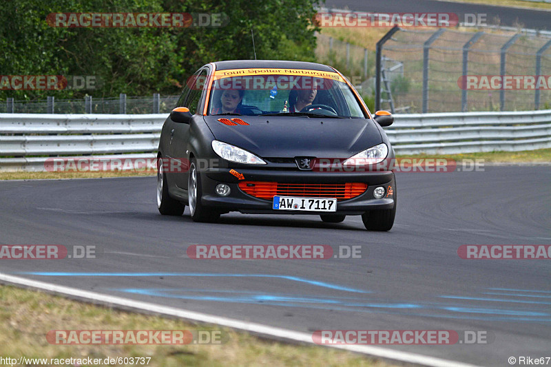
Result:
[[[551,147],[551,109],[395,114],[385,128],[397,154],[461,154]]]

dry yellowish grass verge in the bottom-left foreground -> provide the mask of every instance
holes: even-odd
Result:
[[[198,326],[178,319],[117,311],[14,286],[0,286],[0,303],[0,355],[4,358],[151,357],[149,366],[169,367],[316,366],[320,363],[324,366],[392,366],[333,348],[271,342],[218,326]],[[218,345],[61,346],[48,344],[45,335],[50,330],[224,330],[229,339]]]

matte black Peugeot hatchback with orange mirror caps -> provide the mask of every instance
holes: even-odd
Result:
[[[220,61],[189,78],[158,148],[161,214],[212,222],[229,211],[362,216],[388,231],[394,151],[349,81],[297,61]]]

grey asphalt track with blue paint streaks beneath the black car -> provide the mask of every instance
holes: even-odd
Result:
[[[490,344],[386,346],[482,366],[550,357],[550,260],[457,255],[461,244],[551,244],[550,167],[397,174],[388,233],[365,231],[360,217],[160,216],[155,180],[0,181],[1,244],[98,251],[86,260],[0,260],[1,273],[307,333],[486,331]],[[362,258],[193,260],[190,244],[359,245]]]

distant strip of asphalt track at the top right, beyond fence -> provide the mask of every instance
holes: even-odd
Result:
[[[488,24],[536,30],[551,30],[551,12],[543,9],[509,8],[506,6],[490,6],[473,3],[454,3],[439,0],[326,0],[327,8],[355,10],[358,12],[450,12],[459,17],[459,22],[465,21],[465,14],[486,14]],[[469,19],[467,19],[470,21]]]

